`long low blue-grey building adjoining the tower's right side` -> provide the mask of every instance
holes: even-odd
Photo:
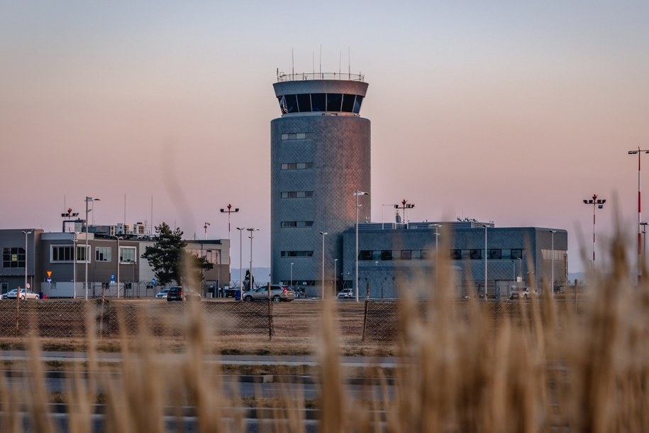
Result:
[[[357,257],[360,297],[394,298],[421,290],[434,296],[436,273],[442,271],[453,273],[457,297],[484,296],[485,280],[487,297],[497,299],[514,287],[547,283],[558,290],[567,283],[567,231],[562,229],[478,221],[374,223],[360,224],[358,237],[356,256],[355,230],[345,231],[340,277],[345,287],[354,287]],[[436,257],[446,269],[436,269]]]

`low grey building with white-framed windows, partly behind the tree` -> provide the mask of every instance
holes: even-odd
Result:
[[[89,226],[87,236],[74,231],[0,230],[0,292],[24,287],[27,279],[34,292],[48,297],[116,297],[118,292],[120,297],[154,296],[160,287],[141,256],[155,239],[110,235],[113,226],[101,227]],[[203,295],[221,295],[219,289],[228,285],[229,248],[227,239],[187,241],[189,253],[204,256],[213,265],[204,271]]]

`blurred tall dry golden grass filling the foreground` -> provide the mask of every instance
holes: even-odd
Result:
[[[22,432],[18,413],[26,410],[32,431],[54,432],[48,402],[55,398],[67,403],[73,433],[91,430],[98,399],[106,405],[106,432],[164,432],[165,408],[177,408],[174,415],[180,417],[184,405],[195,407],[200,432],[245,431],[242,412],[226,410],[233,405],[272,407],[272,431],[277,432],[304,432],[300,409],[311,406],[319,410],[318,431],[326,433],[536,433],[558,427],[570,432],[649,432],[649,287],[628,280],[623,251],[621,243],[611,246],[614,272],[592,275],[578,313],[572,304],[546,297],[521,308],[516,319],[495,320],[486,303],[470,300],[458,309],[453,290],[436,290],[426,314],[411,297],[400,303],[394,344],[341,339],[340,328],[362,326],[362,314],[352,303],[340,307],[332,301],[305,304],[317,305],[317,314],[311,307],[296,314],[294,305],[282,306],[274,319],[282,336],[272,341],[254,336],[215,344],[198,308],[181,324],[185,338],[167,344],[150,338],[145,324],[134,338],[99,341],[89,322],[87,339],[65,344],[87,350],[90,359],[68,367],[69,389],[57,395],[45,390],[39,356],[55,342],[32,337],[22,341],[32,355],[24,366],[30,374],[13,382],[0,376],[0,431]],[[438,287],[453,287],[451,275],[439,278]],[[289,329],[297,335],[310,332],[311,337],[291,338],[286,336]],[[99,363],[100,350],[121,351],[124,362],[112,367],[121,375],[109,374],[111,368]],[[162,361],[165,353],[180,356]],[[280,399],[251,400],[237,398],[236,392],[226,398],[230,385],[221,373],[233,370],[204,363],[204,356],[212,353],[315,354],[318,368],[301,372],[318,378],[319,398],[306,401],[287,393]],[[349,372],[340,368],[339,358],[350,353],[394,354],[402,366],[389,372],[367,369],[363,374],[379,380],[380,391],[367,388],[365,395],[354,398],[346,391]],[[396,379],[392,392],[387,376]],[[379,410],[384,420],[379,420]]]

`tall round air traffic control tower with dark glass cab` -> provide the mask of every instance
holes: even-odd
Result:
[[[342,275],[342,234],[356,223],[356,202],[358,221],[370,221],[370,195],[355,196],[370,192],[370,121],[360,116],[367,83],[278,72],[273,87],[281,116],[270,123],[272,281],[328,297],[343,280],[353,287],[354,275]]]

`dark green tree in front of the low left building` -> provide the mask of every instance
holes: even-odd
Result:
[[[155,233],[157,241],[146,248],[142,258],[149,262],[159,284],[176,282],[183,285],[195,281],[202,285],[201,271],[211,269],[213,265],[205,257],[194,256],[185,251],[187,241],[182,239],[182,230],[177,228],[172,231],[170,226],[163,222],[155,227]]]

